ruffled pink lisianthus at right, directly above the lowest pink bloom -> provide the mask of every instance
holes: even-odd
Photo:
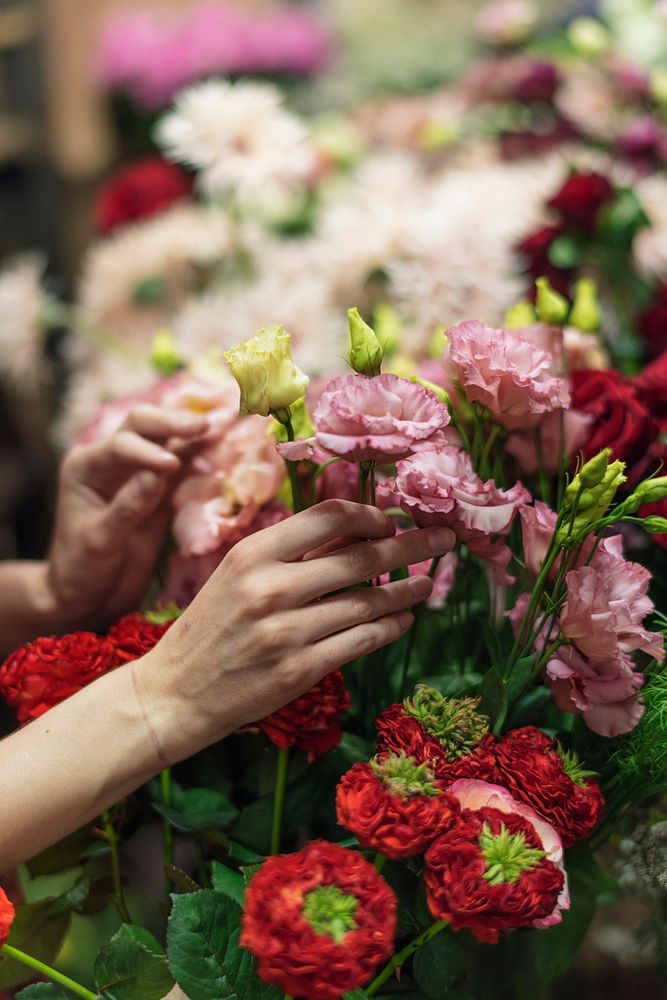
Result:
[[[605,539],[591,564],[571,570],[565,581],[560,626],[579,652],[593,660],[616,660],[642,649],[662,662],[662,636],[641,624],[653,611],[647,594],[651,574],[623,558],[620,535]]]

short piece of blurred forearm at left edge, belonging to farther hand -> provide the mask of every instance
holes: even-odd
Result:
[[[0,658],[39,635],[63,632],[45,562],[0,563]]]

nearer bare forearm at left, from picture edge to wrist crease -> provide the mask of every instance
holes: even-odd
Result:
[[[135,664],[112,671],[0,743],[0,871],[90,822],[166,764]]]

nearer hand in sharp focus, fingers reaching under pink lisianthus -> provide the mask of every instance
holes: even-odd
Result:
[[[341,536],[346,544],[332,550]],[[454,540],[448,528],[397,536],[377,508],[327,500],[239,542],[135,663],[164,760],[263,718],[330,671],[398,639],[431,580],[360,585],[441,556]]]

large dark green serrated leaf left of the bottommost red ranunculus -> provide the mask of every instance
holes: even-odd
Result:
[[[214,890],[172,896],[167,929],[169,965],[190,1000],[282,1000],[257,978],[239,945],[241,908]]]

